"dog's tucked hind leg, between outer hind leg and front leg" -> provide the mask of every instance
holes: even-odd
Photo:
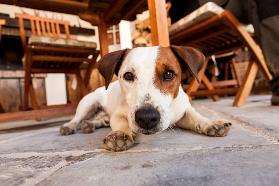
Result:
[[[83,133],[92,133],[96,128],[109,126],[110,117],[103,109],[97,111],[92,118],[81,121],[81,130]]]

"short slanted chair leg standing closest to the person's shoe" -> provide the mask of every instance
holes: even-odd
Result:
[[[254,60],[251,60],[249,62],[244,79],[242,81],[242,85],[239,87],[237,94],[235,96],[235,100],[233,102],[234,106],[245,105],[246,100],[252,90],[258,68],[259,67],[257,65],[257,62],[255,62]]]

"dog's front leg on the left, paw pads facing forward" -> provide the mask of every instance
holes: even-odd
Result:
[[[110,119],[110,132],[103,139],[103,147],[111,151],[127,150],[136,141],[136,136],[129,127],[127,117],[112,115]]]

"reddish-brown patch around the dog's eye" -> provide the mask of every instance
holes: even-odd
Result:
[[[165,78],[167,72],[173,72],[171,79]],[[169,94],[172,98],[178,95],[181,81],[181,67],[176,56],[169,47],[160,47],[155,65],[154,85],[163,94]]]

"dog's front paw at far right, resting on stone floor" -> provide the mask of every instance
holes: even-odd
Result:
[[[196,129],[203,132],[206,135],[217,137],[217,136],[226,136],[232,123],[227,120],[213,120],[209,123],[203,124],[203,126],[197,125]]]

